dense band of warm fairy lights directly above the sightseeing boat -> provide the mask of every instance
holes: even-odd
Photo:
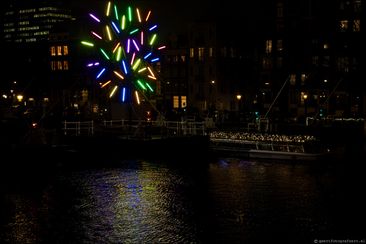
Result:
[[[313,140],[314,136],[310,135],[276,135],[267,133],[249,133],[249,132],[229,132],[229,131],[212,131],[208,134],[210,138],[230,138],[241,140],[274,140],[282,142],[304,142]]]

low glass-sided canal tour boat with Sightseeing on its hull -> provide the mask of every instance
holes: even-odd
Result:
[[[330,154],[318,140],[284,142],[210,138],[210,147],[229,157],[318,160]]]

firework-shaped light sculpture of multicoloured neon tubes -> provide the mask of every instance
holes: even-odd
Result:
[[[152,93],[156,85],[156,72],[151,65],[159,58],[154,56],[154,51],[165,48],[153,48],[158,30],[157,25],[149,23],[153,12],[131,6],[114,5],[113,8],[108,2],[105,11],[89,15],[93,30],[90,39],[82,44],[90,48],[96,46],[100,60],[87,66],[99,64],[96,80],[104,84],[101,87],[109,85],[109,89],[113,89],[109,97],[122,88],[122,102],[133,100],[140,104],[139,97],[147,98],[146,94]],[[127,95],[133,93],[135,96]]]

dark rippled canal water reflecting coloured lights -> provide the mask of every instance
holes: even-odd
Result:
[[[0,243],[364,240],[365,155],[342,150],[322,162],[13,165],[1,173]]]

